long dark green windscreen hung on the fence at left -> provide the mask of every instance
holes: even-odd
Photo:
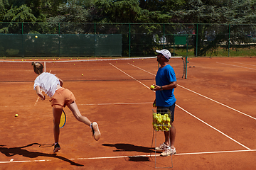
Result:
[[[0,54],[1,57],[122,56],[122,35],[0,34]]]

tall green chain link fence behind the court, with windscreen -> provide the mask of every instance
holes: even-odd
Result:
[[[256,56],[256,24],[0,23],[1,57]]]

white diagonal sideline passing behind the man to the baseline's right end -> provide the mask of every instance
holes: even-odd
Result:
[[[114,65],[112,65],[112,66],[114,66]],[[114,67],[115,67],[115,66],[114,66]],[[115,67],[115,68],[117,68],[117,67]],[[132,79],[134,79],[134,80],[138,81],[137,79],[135,79],[134,77],[130,76],[130,75],[129,75],[129,74],[127,74],[126,72],[122,71],[121,69],[119,69],[119,68],[117,68],[117,69],[118,69],[119,71],[123,72],[124,74],[126,74],[127,76],[131,77]],[[145,85],[145,84],[143,84],[141,81],[138,81],[138,82],[139,82],[140,84],[142,84],[142,85],[146,86],[146,85]],[[147,87],[148,89],[150,89],[148,86],[146,86],[146,87]],[[154,92],[156,92],[156,91],[154,91]],[[176,106],[178,106],[178,105],[176,104]],[[181,106],[178,106],[178,108],[181,108]],[[238,142],[238,141],[234,140],[232,137],[229,137],[228,135],[225,135],[225,133],[223,133],[223,132],[221,132],[220,130],[218,130],[218,129],[214,128],[212,125],[210,125],[210,124],[208,124],[208,123],[204,122],[204,121],[203,121],[203,120],[201,120],[200,118],[197,118],[195,115],[193,115],[193,114],[189,113],[189,112],[188,112],[188,111],[186,111],[185,109],[181,108],[181,110],[185,111],[185,112],[186,112],[186,113],[188,113],[189,115],[192,115],[194,118],[196,118],[197,120],[201,121],[202,123],[204,123],[204,124],[208,125],[210,128],[213,128],[213,130],[216,130],[217,132],[220,132],[220,134],[224,135],[225,137],[228,137],[228,139],[230,139],[230,140],[233,140],[233,142],[236,142],[238,145],[241,145],[242,147],[245,147],[246,149],[249,149],[249,150],[250,150],[250,148],[249,148],[249,147],[246,147],[245,145],[242,145],[240,142]]]

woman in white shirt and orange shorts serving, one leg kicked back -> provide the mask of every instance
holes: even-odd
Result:
[[[36,94],[45,100],[46,96],[42,94],[42,91],[50,97],[50,106],[53,107],[53,133],[55,146],[53,152],[58,152],[60,150],[60,145],[58,144],[60,135],[60,116],[65,106],[68,106],[70,111],[72,111],[75,118],[85,123],[85,125],[90,126],[92,129],[92,136],[95,140],[100,139],[100,130],[96,122],[91,123],[88,118],[82,116],[78,110],[78,106],[75,103],[75,96],[68,89],[63,88],[63,80],[55,77],[54,74],[43,72],[43,65],[40,62],[32,62],[34,72],[38,74],[33,85],[33,89],[36,90]]]

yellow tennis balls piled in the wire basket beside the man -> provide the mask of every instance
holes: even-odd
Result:
[[[153,113],[153,128],[156,131],[169,131],[169,128],[171,128],[169,114],[165,113],[161,115],[160,113]]]

